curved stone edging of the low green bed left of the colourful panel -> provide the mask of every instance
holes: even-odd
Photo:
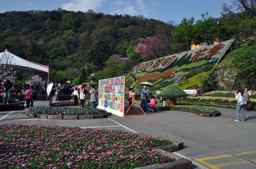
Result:
[[[85,120],[85,119],[100,119],[100,118],[107,118],[107,116],[112,116],[112,113],[107,112],[103,113],[102,115],[88,115],[88,116],[58,116],[58,115],[43,115],[37,114],[32,111],[25,110],[27,116],[43,118],[43,119],[63,119],[63,120]]]

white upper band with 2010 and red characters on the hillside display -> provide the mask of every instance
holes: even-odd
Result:
[[[149,71],[152,69],[163,69],[172,68],[176,63],[182,62],[183,64],[189,64],[192,62],[197,62],[199,60],[205,59],[219,59],[223,56],[226,50],[229,48],[230,44],[234,40],[229,40],[221,42],[218,44],[205,46],[195,50],[190,50],[187,52],[176,53],[174,55],[165,56],[162,58],[157,58],[147,62],[139,63],[134,67],[131,73],[139,73],[141,71]]]

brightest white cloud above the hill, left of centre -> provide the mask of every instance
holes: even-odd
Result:
[[[73,2],[63,3],[61,8],[67,11],[86,12],[89,9],[95,11],[101,7],[103,1],[105,0],[73,0]]]

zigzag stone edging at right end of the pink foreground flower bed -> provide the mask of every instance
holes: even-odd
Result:
[[[165,139],[165,138],[162,138]],[[167,155],[168,157],[174,157],[176,160],[170,163],[157,163],[152,165],[146,165],[143,167],[138,167],[135,169],[191,169],[192,168],[192,161],[186,158],[182,158],[172,152],[176,152],[183,149],[183,143],[177,142],[171,139],[172,144],[168,144],[165,146],[158,146],[155,147],[154,150],[159,151],[163,155]]]

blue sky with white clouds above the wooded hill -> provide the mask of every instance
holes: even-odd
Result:
[[[0,13],[5,11],[43,10],[53,11],[62,8],[66,11],[89,9],[96,13],[143,15],[148,19],[181,23],[183,18],[202,19],[202,13],[219,18],[223,3],[231,0],[0,0]]]

